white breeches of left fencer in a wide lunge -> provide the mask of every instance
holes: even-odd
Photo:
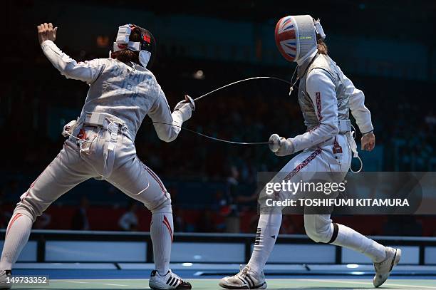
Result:
[[[171,212],[170,195],[159,177],[138,159],[132,140],[118,133],[115,158],[107,162],[110,132],[85,128],[85,133],[93,143],[85,143],[81,152],[76,140],[66,140],[58,156],[21,196],[15,213],[34,221],[58,197],[90,178],[107,180],[152,212]]]

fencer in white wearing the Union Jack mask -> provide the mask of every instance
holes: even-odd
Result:
[[[302,151],[280,170],[279,175],[284,175],[280,178],[291,182],[299,182],[301,178],[310,181],[308,176],[316,172],[338,172],[341,178],[345,177],[352,157],[358,155],[351,133],[350,110],[363,133],[362,149],[370,151],[375,145],[365,95],[327,55],[325,37],[320,22],[308,15],[286,16],[276,26],[279,51],[298,65],[298,100],[307,127],[306,133],[294,138],[280,138],[276,134],[270,138],[273,143],[270,148],[277,156]],[[263,270],[279,234],[281,217],[281,212],[261,210],[249,263],[235,276],[223,278],[220,286],[266,288]],[[347,247],[369,257],[375,266],[373,284],[376,287],[388,279],[400,260],[400,249],[385,247],[343,224],[336,224],[330,214],[304,214],[304,228],[314,242]]]

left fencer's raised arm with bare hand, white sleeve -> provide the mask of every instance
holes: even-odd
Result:
[[[77,63],[56,46],[53,41],[56,40],[58,28],[53,28],[53,24],[41,24],[37,26],[37,29],[43,53],[63,76],[86,83],[93,83],[100,76],[105,65],[98,59]]]

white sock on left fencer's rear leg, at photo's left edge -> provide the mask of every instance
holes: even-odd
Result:
[[[3,252],[1,253],[0,271],[11,270],[30,236],[33,221],[21,213],[14,213],[9,221]]]

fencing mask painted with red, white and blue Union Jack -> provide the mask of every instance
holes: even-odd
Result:
[[[276,45],[288,61],[298,61],[316,51],[316,35],[326,38],[321,23],[310,15],[285,16],[276,25]]]

